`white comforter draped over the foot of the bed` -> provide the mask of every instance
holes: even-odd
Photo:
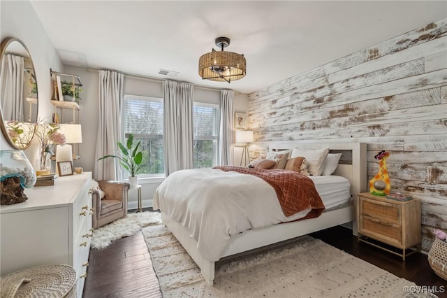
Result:
[[[264,180],[217,169],[170,174],[157,188],[153,208],[187,227],[200,255],[212,262],[219,260],[231,235],[297,220],[310,211],[286,217],[273,187]]]

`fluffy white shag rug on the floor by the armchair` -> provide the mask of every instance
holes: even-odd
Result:
[[[159,212],[129,213],[125,218],[115,220],[108,225],[93,230],[91,248],[101,249],[110,246],[112,241],[132,236],[142,227],[148,225],[161,225]]]

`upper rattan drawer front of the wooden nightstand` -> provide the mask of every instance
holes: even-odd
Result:
[[[400,224],[400,205],[385,203],[382,201],[374,201],[370,199],[362,199],[360,213],[369,215],[374,218],[381,218],[386,222],[395,222]]]

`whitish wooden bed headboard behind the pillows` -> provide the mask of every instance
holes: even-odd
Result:
[[[367,190],[366,150],[365,143],[312,143],[305,142],[266,142],[269,150],[321,149],[329,147],[329,152],[343,152],[334,175],[343,176],[351,182],[351,194],[357,196]]]

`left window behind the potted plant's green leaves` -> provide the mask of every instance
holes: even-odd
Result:
[[[163,100],[124,95],[124,135],[141,141],[142,163],[138,175],[163,176]],[[123,173],[127,177],[127,173]]]

